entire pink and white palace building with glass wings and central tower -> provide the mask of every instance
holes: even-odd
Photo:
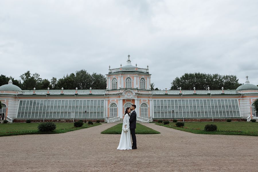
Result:
[[[246,83],[236,90],[151,90],[148,66],[131,64],[110,69],[105,90],[21,90],[8,84],[0,87],[1,120],[9,122],[73,122],[78,119],[115,122],[123,118],[126,107],[136,105],[142,122],[173,118],[183,121],[238,121],[258,119],[253,102],[258,87]]]

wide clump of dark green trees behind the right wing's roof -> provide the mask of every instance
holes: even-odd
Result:
[[[219,75],[206,73],[185,73],[180,78],[176,77],[171,83],[171,89],[177,90],[179,87],[185,90],[193,90],[193,87],[199,90],[210,89],[236,89],[241,84],[236,75]]]

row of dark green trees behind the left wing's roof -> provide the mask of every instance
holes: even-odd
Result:
[[[6,77],[5,75],[0,76],[0,86],[8,83],[9,79],[12,79],[13,84],[20,87],[22,90],[32,90],[34,87],[37,90],[50,89],[106,89],[107,80],[106,77],[99,73],[88,73],[82,69],[75,73],[64,75],[64,77],[57,79],[52,77],[48,79],[40,78],[38,73],[31,74],[30,71],[25,72],[20,76],[20,80],[12,77]]]

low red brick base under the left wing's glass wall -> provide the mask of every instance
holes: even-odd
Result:
[[[14,119],[13,122],[26,122],[27,119]],[[75,121],[79,121],[79,120],[83,120],[83,119],[74,119]],[[88,121],[92,121],[92,122],[96,122],[98,119],[87,119],[87,120],[83,120],[83,122],[88,122]],[[104,119],[99,119],[100,122],[105,122]],[[31,122],[43,122],[43,119],[31,119]],[[73,119],[45,119],[44,122],[73,122]]]

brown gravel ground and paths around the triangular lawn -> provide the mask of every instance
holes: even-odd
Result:
[[[144,124],[135,150],[116,150],[115,124],[62,134],[0,137],[0,171],[258,171],[258,137],[202,135]]]

